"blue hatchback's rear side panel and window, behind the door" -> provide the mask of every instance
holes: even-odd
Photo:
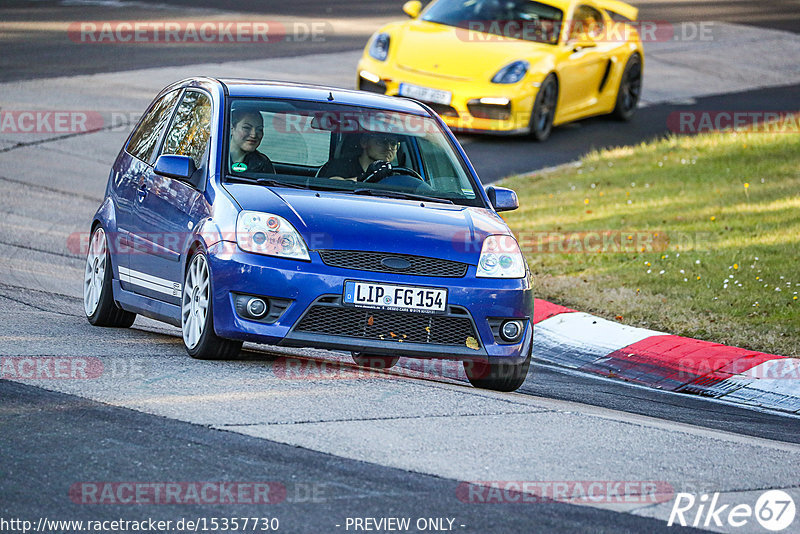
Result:
[[[109,236],[109,242],[122,288],[128,291],[134,290],[128,273],[130,257],[135,254],[131,230],[136,227],[136,206],[158,142],[175,110],[180,93],[179,89],[171,91],[150,106],[111,170],[111,197],[117,228],[116,233]]]

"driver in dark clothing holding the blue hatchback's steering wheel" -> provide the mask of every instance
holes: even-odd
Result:
[[[391,134],[366,133],[361,136],[359,145],[360,154],[329,161],[317,175],[321,178],[357,182],[380,181],[389,176],[392,172],[389,162],[397,155],[400,139]]]

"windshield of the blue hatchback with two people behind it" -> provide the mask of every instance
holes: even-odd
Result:
[[[226,180],[484,206],[430,117],[254,98],[231,99],[229,117]]]

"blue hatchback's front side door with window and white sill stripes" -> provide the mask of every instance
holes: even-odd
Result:
[[[198,89],[187,89],[173,114],[158,155],[191,157],[197,171],[193,183],[160,176],[154,168],[145,173],[136,205],[137,253],[130,257],[130,275],[135,291],[142,295],[179,304],[183,284],[181,254],[200,218],[207,173],[207,147],[211,133],[211,98]]]

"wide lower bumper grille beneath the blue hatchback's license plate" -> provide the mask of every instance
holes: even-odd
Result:
[[[469,313],[455,306],[450,307],[448,315],[425,315],[317,303],[308,309],[295,331],[470,348],[480,343]]]

